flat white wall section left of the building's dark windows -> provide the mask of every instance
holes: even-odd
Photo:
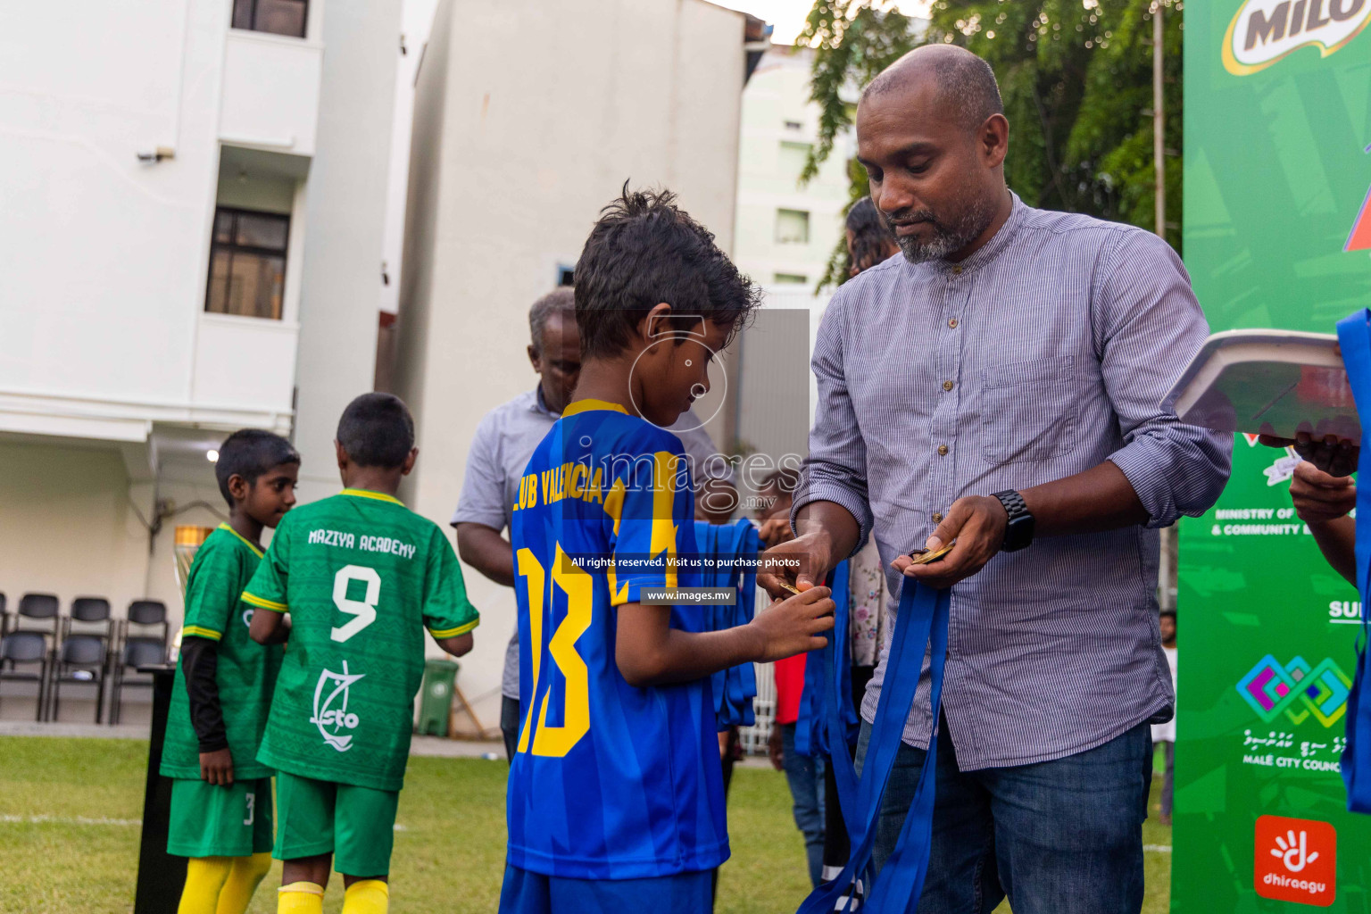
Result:
[[[0,389],[189,396],[221,5],[86,0],[0,12]],[[60,49],[40,36],[60,36]],[[158,145],[175,147],[175,160],[137,162]]]

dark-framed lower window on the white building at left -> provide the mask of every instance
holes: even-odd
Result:
[[[204,310],[280,321],[289,237],[291,217],[229,207],[215,210]]]

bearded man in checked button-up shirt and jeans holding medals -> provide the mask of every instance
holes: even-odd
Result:
[[[1228,436],[1158,406],[1204,343],[1204,315],[1163,240],[1009,192],[1009,123],[980,58],[906,55],[864,92],[857,140],[903,256],[843,285],[824,314],[797,539],[772,555],[817,581],[875,525],[891,593],[901,574],[951,588],[920,911],[979,914],[1006,892],[1015,914],[1138,911],[1148,722],[1175,702],[1157,528],[1213,504],[1231,459]],[[905,556],[943,543],[956,545],[941,562]],[[779,574],[761,580],[773,595]],[[925,666],[877,866],[934,724]]]

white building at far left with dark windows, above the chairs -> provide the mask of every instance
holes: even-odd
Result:
[[[370,391],[400,0],[0,10],[0,592],[181,602],[206,452]],[[203,506],[197,506],[203,503]],[[162,518],[159,521],[159,518]],[[156,532],[145,526],[149,522]]]

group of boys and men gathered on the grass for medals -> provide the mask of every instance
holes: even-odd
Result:
[[[537,385],[481,422],[452,515],[462,559],[518,606],[502,913],[709,911],[733,755],[710,677],[766,662],[771,755],[816,887],[869,854],[862,874],[909,877],[920,911],[1141,910],[1150,726],[1175,704],[1157,529],[1213,504],[1233,444],[1160,404],[1208,326],[1165,241],[1009,190],[980,58],[902,58],[864,89],[857,141],[871,196],[818,329],[809,458],[761,486],[773,602],[750,623],[712,629],[673,593],[699,582],[696,521],[736,502],[691,403],[760,289],[670,192],[625,185],[574,288],[533,304]],[[170,850],[192,858],[182,914],[243,911],[269,848],[284,914],[322,911],[330,870],[345,914],[387,910],[424,633],[462,655],[478,619],[451,543],[396,499],[415,459],[407,408],[381,393],[339,422],[330,499],[293,507],[299,455],[276,436],[221,448],[232,517],[192,567],[163,766]],[[897,673],[897,606],[934,591],[946,643]],[[799,706],[839,603],[851,732],[828,730],[825,759]],[[910,706],[877,732],[901,688]],[[872,759],[888,780],[849,841],[836,798]],[[916,861],[901,848],[921,781],[936,806]]]

